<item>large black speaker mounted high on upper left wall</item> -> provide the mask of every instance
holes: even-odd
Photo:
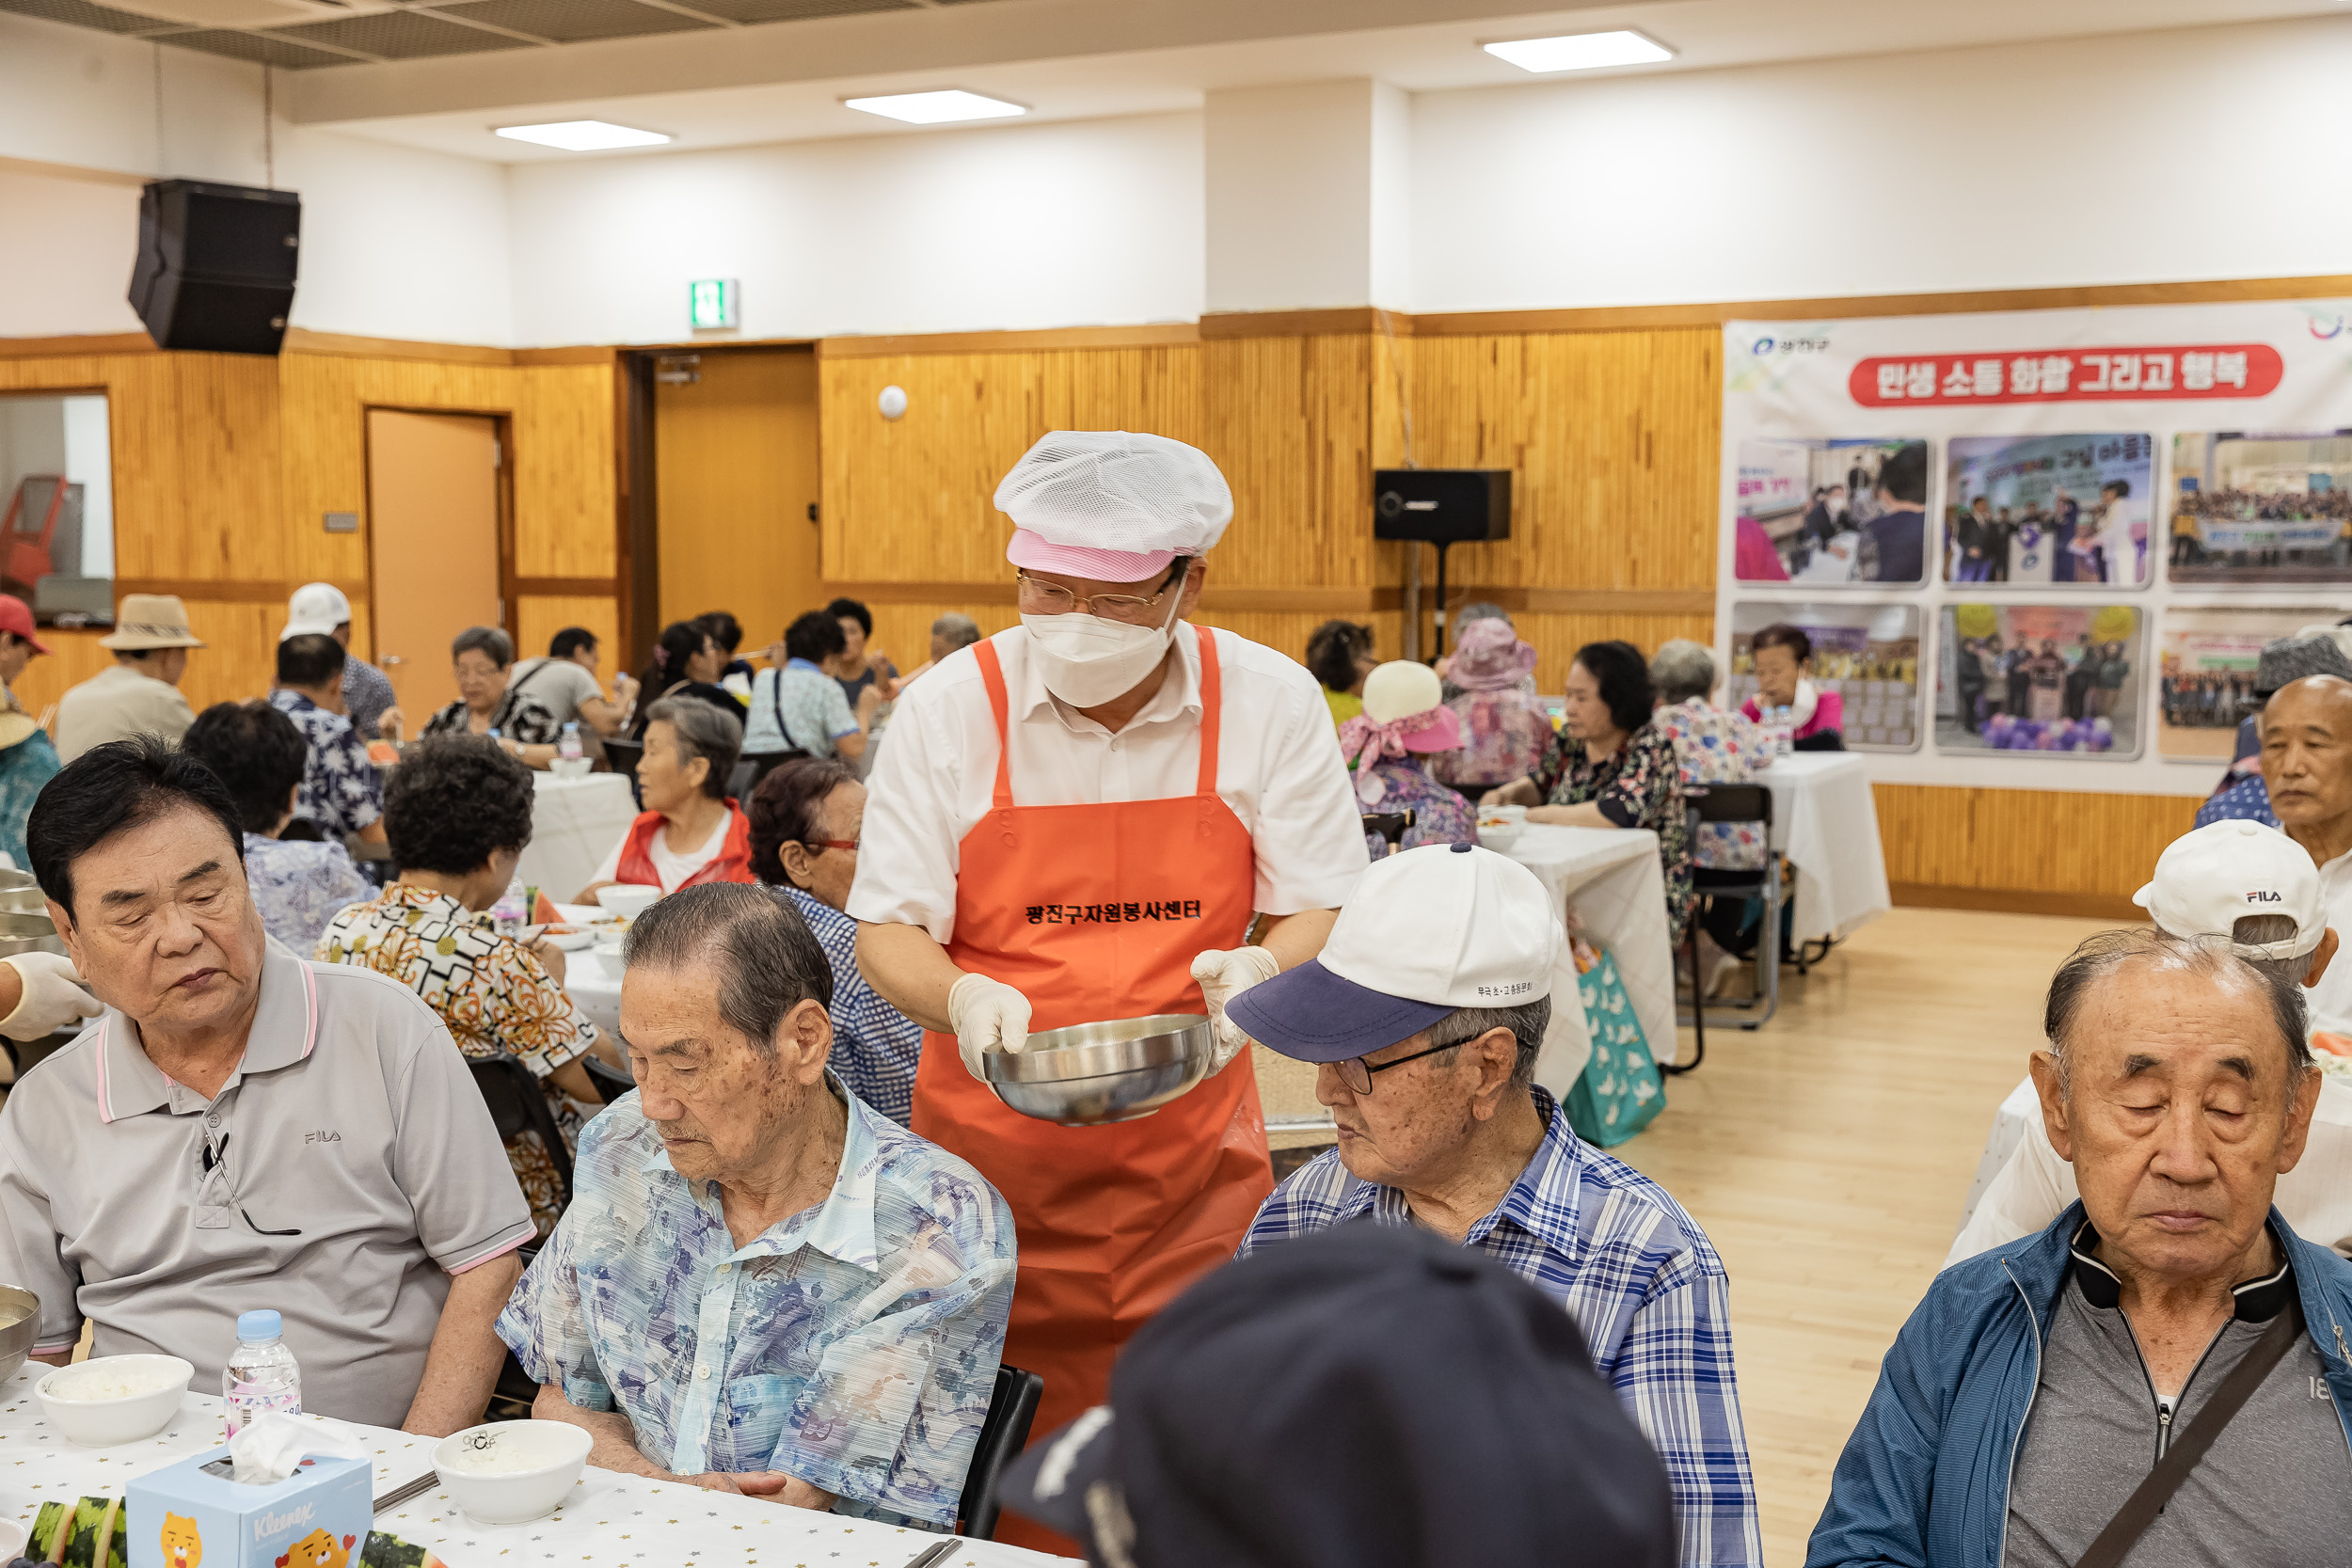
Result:
[[[139,193],[132,310],[158,348],[273,355],[294,313],[301,197],[158,179]]]

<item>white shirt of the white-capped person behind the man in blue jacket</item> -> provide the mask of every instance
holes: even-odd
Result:
[[[1992,1131],[1985,1133],[1985,1152],[1976,1161],[1976,1182],[1959,1211],[1945,1267],[2030,1237],[2074,1197],[2074,1166],[2058,1159],[2042,1131],[2034,1081],[2020,1079],[1992,1112]],[[2305,1241],[2352,1255],[2352,1081],[2333,1074],[2319,1079],[2312,1135],[2296,1168],[2279,1178],[2272,1201]]]

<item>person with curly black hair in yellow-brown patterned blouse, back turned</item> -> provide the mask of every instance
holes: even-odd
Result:
[[[597,1030],[564,994],[564,954],[553,943],[524,947],[482,919],[532,842],[532,771],[480,736],[419,741],[383,785],[383,830],[400,882],[327,922],[318,959],[400,980],[466,1056],[520,1058],[564,1143],[576,1143],[604,1103],[581,1065]],[[550,1150],[522,1133],[506,1154],[543,1239],[562,1194]]]

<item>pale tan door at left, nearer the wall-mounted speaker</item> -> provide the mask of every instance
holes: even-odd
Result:
[[[456,701],[449,644],[503,625],[499,595],[499,421],[367,411],[367,555],[376,663],[409,736]]]

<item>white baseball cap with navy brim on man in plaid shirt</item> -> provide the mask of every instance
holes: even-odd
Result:
[[[1343,1063],[1456,1009],[1550,997],[1566,940],[1536,872],[1477,844],[1423,844],[1374,860],[1322,954],[1228,1011],[1270,1051]]]

